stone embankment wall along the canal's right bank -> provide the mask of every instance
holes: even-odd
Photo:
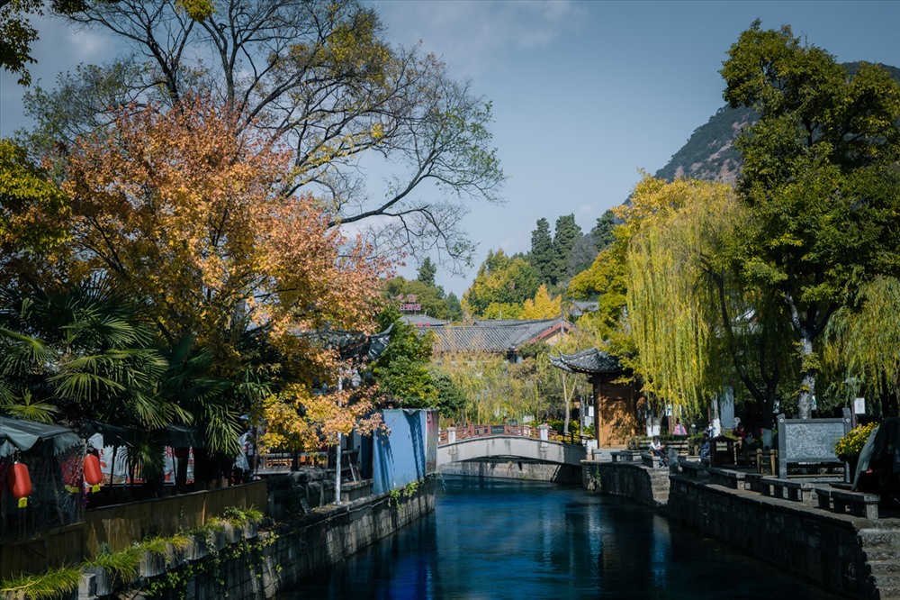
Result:
[[[671,471],[630,459],[585,461],[582,467],[587,489],[652,506],[833,592],[867,600],[900,598],[898,519],[835,513],[816,505],[812,496],[764,495],[752,489],[753,477],[709,473],[716,469],[698,463]]]

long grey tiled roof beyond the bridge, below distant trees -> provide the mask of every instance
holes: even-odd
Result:
[[[512,319],[496,321],[476,321],[474,325],[447,325],[435,327],[437,350],[444,352],[487,351],[505,352],[516,350],[530,341],[558,332],[563,320],[543,319],[539,321],[519,321]],[[566,331],[572,330],[572,323],[564,322]]]

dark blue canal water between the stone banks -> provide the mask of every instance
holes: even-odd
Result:
[[[434,514],[285,600],[837,598],[641,505],[581,488],[446,478]]]

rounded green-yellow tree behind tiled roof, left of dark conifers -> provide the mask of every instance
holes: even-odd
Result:
[[[509,258],[503,250],[490,250],[472,286],[463,295],[464,310],[478,317],[487,316],[489,305],[521,305],[534,297],[540,274],[525,259]],[[507,312],[503,315],[506,318]]]

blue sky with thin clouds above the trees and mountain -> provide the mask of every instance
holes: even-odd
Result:
[[[503,205],[475,204],[463,223],[478,252],[437,283],[463,295],[488,250],[530,248],[540,218],[575,214],[585,232],[621,204],[725,105],[726,52],[754,19],[841,62],[900,67],[900,2],[507,2],[375,0],[394,44],[421,43],[490,100],[493,145],[507,176]],[[51,86],[114,42],[41,23],[32,76]],[[0,135],[27,125],[15,77],[0,74]],[[414,265],[402,274],[415,277]]]

